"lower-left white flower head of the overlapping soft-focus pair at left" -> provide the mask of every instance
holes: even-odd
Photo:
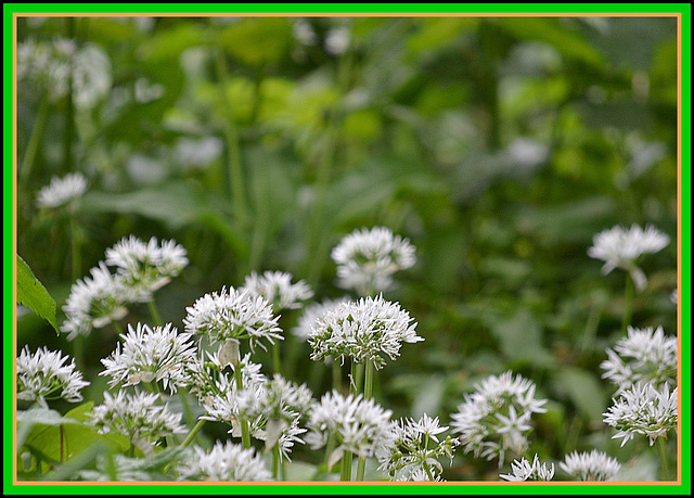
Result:
[[[91,278],[85,277],[73,284],[63,306],[67,319],[61,332],[68,333],[68,341],[120,320],[128,315],[126,304],[132,302],[130,289],[115,279],[103,261],[90,272]]]

